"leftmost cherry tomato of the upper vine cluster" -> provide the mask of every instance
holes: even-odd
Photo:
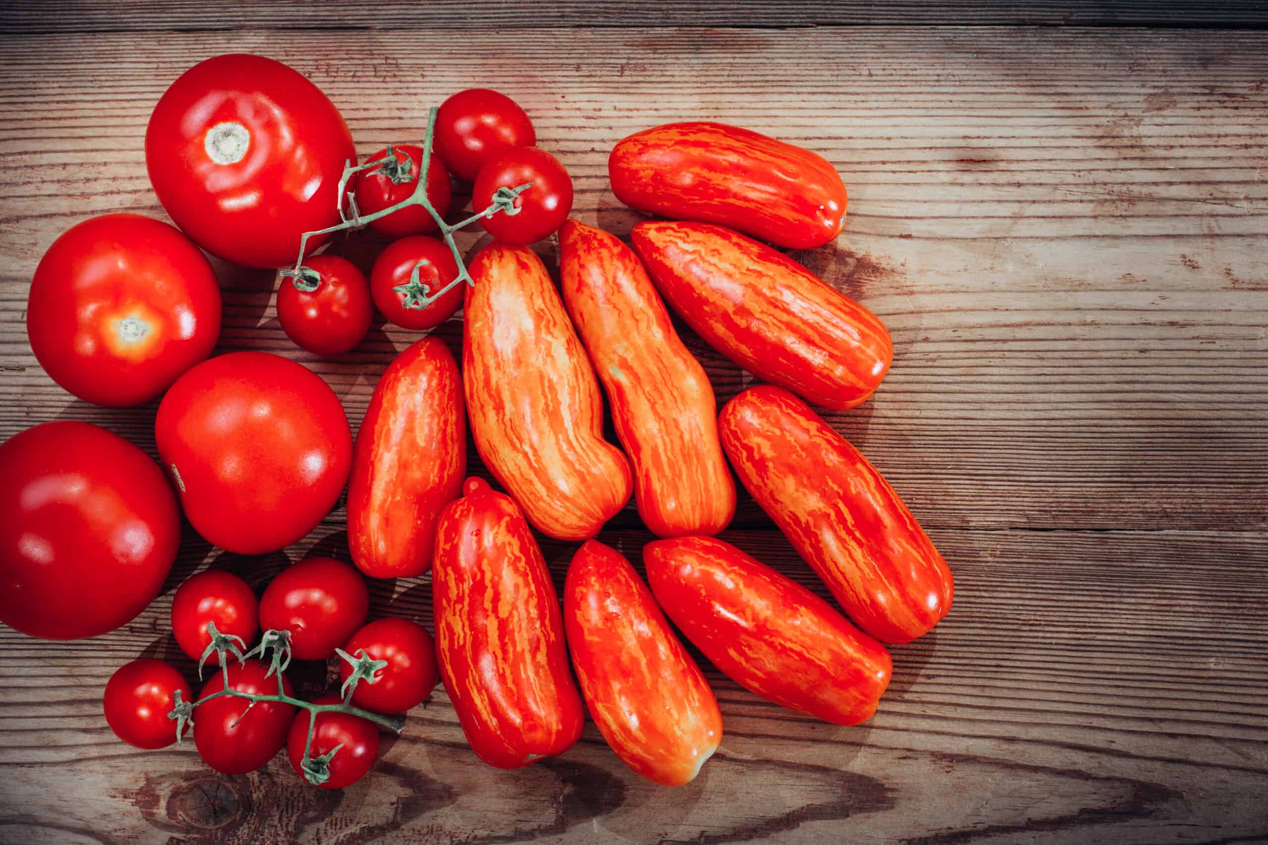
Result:
[[[370,283],[356,265],[339,256],[316,255],[304,258],[304,266],[317,274],[317,289],[299,290],[294,279],[283,279],[278,322],[299,348],[326,357],[342,355],[370,331]]]

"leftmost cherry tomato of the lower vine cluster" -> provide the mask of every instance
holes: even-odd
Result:
[[[114,735],[138,749],[165,749],[176,741],[176,722],[167,713],[181,701],[193,701],[189,684],[162,660],[126,663],[105,684],[101,704]]]

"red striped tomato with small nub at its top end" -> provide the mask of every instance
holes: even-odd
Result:
[[[436,526],[436,658],[472,750],[515,769],[562,754],[585,708],[564,649],[559,598],[529,523],[478,478]]]

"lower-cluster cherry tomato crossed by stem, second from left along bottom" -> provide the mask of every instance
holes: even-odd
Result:
[[[249,696],[276,696],[278,675],[265,678],[269,666],[259,660],[228,665],[230,689]],[[217,671],[203,685],[198,698],[224,689],[224,673]],[[295,689],[285,673],[281,689],[294,696]],[[221,696],[194,708],[194,745],[199,756],[223,774],[255,772],[271,760],[287,744],[287,731],[295,717],[295,706],[281,702],[260,702],[247,712],[250,702],[237,696]]]

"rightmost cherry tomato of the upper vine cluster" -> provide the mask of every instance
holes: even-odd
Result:
[[[491,158],[476,177],[472,208],[483,212],[498,187],[533,182],[515,198],[515,214],[498,212],[481,226],[498,241],[527,246],[554,233],[572,210],[572,177],[559,160],[538,147],[519,147]]]

